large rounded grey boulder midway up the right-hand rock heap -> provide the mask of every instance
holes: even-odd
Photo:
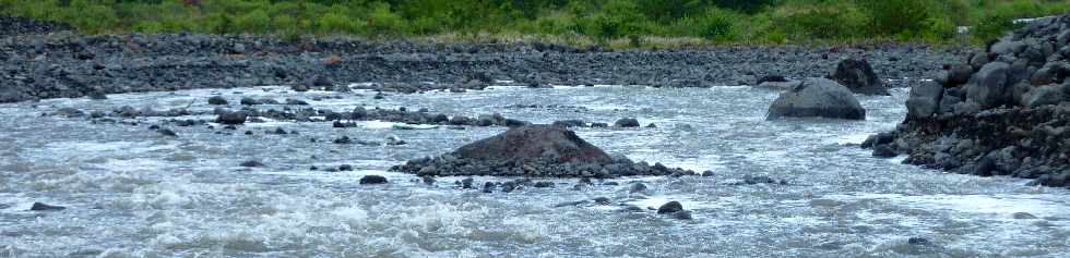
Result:
[[[1006,99],[1007,71],[1010,64],[991,62],[980,67],[966,83],[966,100],[973,100],[982,109],[999,106]]]

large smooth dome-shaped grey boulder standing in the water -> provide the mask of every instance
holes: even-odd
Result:
[[[769,107],[765,119],[787,116],[865,120],[866,109],[843,85],[827,78],[805,78],[798,86],[781,93]]]

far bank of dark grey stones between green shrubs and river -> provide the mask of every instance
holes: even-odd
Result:
[[[282,41],[257,36],[36,34],[0,38],[0,102],[131,91],[288,85],[415,93],[518,85],[744,85],[766,75],[819,77],[841,59],[866,56],[877,74],[929,77],[958,50],[730,47],[681,50],[575,49],[544,44],[415,44],[349,39]],[[583,64],[583,65],[576,65]],[[433,82],[429,84],[427,82]]]

